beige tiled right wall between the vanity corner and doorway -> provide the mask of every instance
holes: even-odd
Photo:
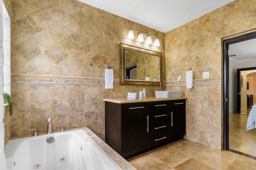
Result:
[[[236,0],[165,35],[166,82],[183,80],[189,67],[194,79],[209,71],[216,84],[204,83],[184,91],[187,100],[186,139],[222,149],[222,37],[256,27],[255,0]],[[167,64],[169,63],[169,64]]]

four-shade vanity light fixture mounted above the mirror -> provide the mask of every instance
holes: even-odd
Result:
[[[146,38],[147,38],[146,39],[146,44],[152,44],[152,37],[153,36],[142,33],[140,31],[136,31],[134,29],[129,30],[128,37],[127,37],[128,39],[134,39],[134,31],[139,33],[138,39],[137,39],[138,42],[143,42],[144,41],[144,36],[146,36]],[[155,38],[154,46],[159,47],[160,46],[159,39],[157,37],[153,37],[153,38]]]

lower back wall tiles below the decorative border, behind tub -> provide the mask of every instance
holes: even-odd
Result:
[[[12,137],[29,135],[28,129],[46,132],[48,116],[53,131],[87,126],[104,139],[104,98],[125,98],[128,92],[146,88],[149,96],[158,86],[120,86],[105,89],[104,85],[50,84],[47,87],[12,87]]]

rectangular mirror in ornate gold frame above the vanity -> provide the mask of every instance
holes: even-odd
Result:
[[[121,85],[159,86],[162,53],[120,43]]]

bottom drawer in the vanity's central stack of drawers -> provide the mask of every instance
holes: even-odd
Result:
[[[156,145],[160,145],[162,143],[166,143],[169,141],[169,133],[168,129],[163,131],[162,133],[156,133],[149,136],[149,147],[154,147]]]

